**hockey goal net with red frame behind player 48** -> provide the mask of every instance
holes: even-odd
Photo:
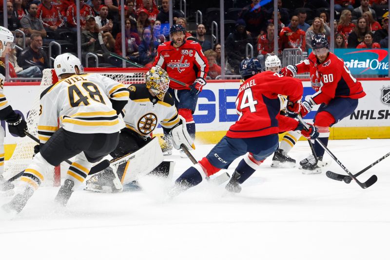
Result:
[[[99,73],[113,80],[117,80],[125,85],[134,83],[144,83],[144,76],[148,70],[145,68],[85,68],[85,73]],[[40,93],[50,85],[58,81],[54,69],[45,69],[39,85],[39,95],[35,97],[31,110],[27,113],[26,122],[28,132],[38,138],[38,120],[39,120],[39,97]],[[15,176],[30,164],[34,155],[34,146],[37,142],[28,137],[21,138],[17,143],[12,157],[5,162],[4,173],[7,176]],[[67,165],[64,164],[65,169]],[[52,180],[55,186],[60,184],[60,168],[55,167],[54,171],[46,176],[46,179]],[[48,183],[46,181],[46,183]]]

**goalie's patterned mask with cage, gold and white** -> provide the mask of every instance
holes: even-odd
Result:
[[[168,73],[159,66],[152,67],[145,75],[146,87],[153,91],[159,100],[164,100],[169,87]]]

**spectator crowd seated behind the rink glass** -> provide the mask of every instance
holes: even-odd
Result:
[[[22,48],[10,55],[10,75],[15,78],[41,77],[42,70],[51,66],[44,48],[52,41],[59,42],[67,52],[77,51],[75,1],[79,1],[80,6],[84,63],[86,54],[94,53],[103,62],[109,61],[107,63],[115,66],[115,60],[108,59],[104,53],[121,56],[124,38],[127,59],[150,66],[156,57],[157,46],[169,40],[169,0],[160,0],[160,6],[156,0],[125,0],[124,36],[119,0],[7,0],[5,11],[2,10],[2,1],[0,12],[7,16],[8,29],[15,32],[16,43]],[[241,9],[233,8],[236,9],[234,26],[225,30],[225,64],[220,62],[221,45],[210,37],[211,23],[206,19],[204,24],[192,25],[187,22],[189,16],[184,17],[179,10],[173,11],[174,23],[181,24],[188,31],[186,39],[201,45],[210,63],[210,78],[220,75],[221,67],[227,68],[228,73],[238,74],[238,66],[247,55],[248,43],[254,46],[254,56],[263,65],[268,55],[280,56],[286,48],[300,48],[304,53],[310,51],[315,34],[324,34],[328,40],[333,38],[335,48],[388,46],[389,12],[377,14],[375,11],[376,7],[388,4],[388,0],[334,0],[337,19],[334,21],[330,21],[327,0],[278,0],[277,28],[273,22],[273,1],[261,2],[236,1]],[[207,10],[202,12],[207,15]],[[2,22],[1,19],[1,25]],[[331,26],[334,35],[331,35]],[[274,53],[275,34],[277,53]]]

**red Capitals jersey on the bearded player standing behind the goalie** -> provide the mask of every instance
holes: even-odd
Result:
[[[196,78],[206,79],[209,63],[203,55],[198,42],[185,40],[183,45],[175,48],[172,41],[161,43],[153,66],[160,66],[168,72],[169,77],[187,84],[182,86],[171,80],[169,86],[174,89],[190,89],[188,85]]]

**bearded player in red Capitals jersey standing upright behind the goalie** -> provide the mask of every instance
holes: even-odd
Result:
[[[180,24],[172,25],[170,34],[172,41],[158,46],[153,66],[162,67],[171,79],[186,84],[183,86],[171,80],[169,93],[175,98],[178,113],[186,120],[188,133],[195,140],[195,122],[192,115],[198,94],[206,85],[209,64],[198,42],[184,40],[185,30]]]

